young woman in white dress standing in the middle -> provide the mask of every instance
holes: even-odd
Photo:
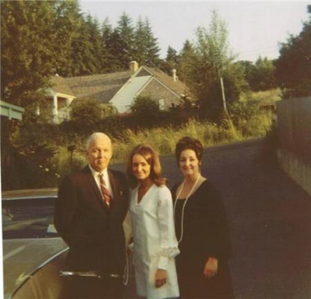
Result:
[[[139,296],[179,296],[174,257],[178,246],[171,192],[161,178],[158,155],[150,145],[133,149],[127,165],[131,192],[135,280]]]

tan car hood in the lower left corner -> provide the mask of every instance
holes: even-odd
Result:
[[[3,278],[5,298],[10,298],[34,271],[67,248],[60,238],[4,239]]]

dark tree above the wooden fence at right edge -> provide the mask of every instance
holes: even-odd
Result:
[[[276,60],[276,80],[284,98],[311,95],[311,5],[308,12],[309,20],[303,24],[303,30],[281,44]]]

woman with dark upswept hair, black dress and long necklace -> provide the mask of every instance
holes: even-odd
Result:
[[[202,154],[196,139],[184,137],[176,145],[184,176],[171,190],[180,249],[176,257],[180,298],[232,299],[227,218],[219,192],[200,174]]]

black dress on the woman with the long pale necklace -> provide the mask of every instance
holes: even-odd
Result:
[[[171,192],[176,201],[175,185]],[[178,199],[175,209],[175,227],[178,241],[181,235],[182,206]],[[227,260],[232,255],[225,208],[220,194],[209,181],[204,181],[185,206],[183,237],[176,257],[180,298],[234,298]],[[218,259],[218,272],[205,278],[203,270],[208,257]]]

